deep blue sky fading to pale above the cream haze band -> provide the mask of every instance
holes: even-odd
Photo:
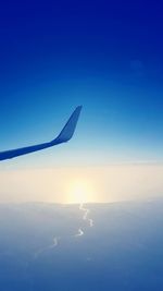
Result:
[[[14,166],[162,161],[162,29],[159,1],[2,3],[1,150],[51,140],[83,105],[68,145]]]

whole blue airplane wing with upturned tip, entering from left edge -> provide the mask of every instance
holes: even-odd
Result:
[[[63,128],[63,130],[61,131],[61,133],[58,135],[57,138],[43,144],[0,151],[0,160],[12,159],[22,155],[30,154],[33,151],[41,150],[48,147],[52,147],[54,145],[68,142],[75,132],[80,110],[82,106],[78,106],[73,112],[73,114],[70,117],[67,123],[65,124],[65,126]]]

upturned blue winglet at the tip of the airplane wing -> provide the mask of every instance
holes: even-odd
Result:
[[[82,106],[78,106],[75,111],[73,112],[73,114],[70,117],[68,121],[66,122],[65,126],[63,128],[63,130],[61,131],[61,133],[58,135],[58,137],[53,141],[51,141],[51,144],[55,144],[55,143],[66,143],[68,142],[76,129],[77,125],[77,121],[79,118],[82,111]]]

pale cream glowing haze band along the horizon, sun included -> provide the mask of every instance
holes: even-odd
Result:
[[[0,172],[0,202],[102,203],[163,195],[162,165]]]

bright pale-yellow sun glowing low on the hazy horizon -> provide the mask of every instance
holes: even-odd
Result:
[[[72,181],[68,186],[66,203],[83,204],[95,201],[95,191],[92,184],[86,180]]]

